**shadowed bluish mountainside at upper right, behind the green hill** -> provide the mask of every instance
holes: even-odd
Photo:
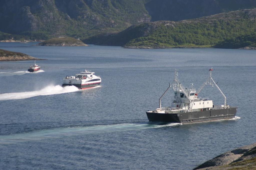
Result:
[[[146,9],[152,17],[151,21],[179,21],[193,19],[221,12],[256,7],[253,0],[151,0]]]

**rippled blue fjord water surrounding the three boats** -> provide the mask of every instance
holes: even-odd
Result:
[[[0,43],[37,58],[0,62],[0,169],[192,169],[256,141],[256,51],[238,49],[125,49],[111,46],[45,47]],[[231,120],[178,124],[148,122],[146,111],[172,83],[187,87],[212,77],[237,106]],[[62,88],[84,69],[102,78],[89,90]],[[24,73],[24,74],[23,74]],[[199,97],[224,103],[216,87]],[[170,106],[173,91],[163,106]],[[240,119],[239,119],[240,117]]]

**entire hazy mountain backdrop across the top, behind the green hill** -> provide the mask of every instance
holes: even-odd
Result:
[[[0,0],[0,40],[87,38],[150,21],[253,7],[254,0]]]

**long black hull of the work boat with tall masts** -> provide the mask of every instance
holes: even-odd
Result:
[[[152,111],[146,113],[150,122],[191,123],[218,119],[230,119],[236,116],[237,107],[187,113],[153,113]]]

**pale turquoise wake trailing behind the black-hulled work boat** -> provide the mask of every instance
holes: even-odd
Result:
[[[164,125],[152,123],[123,123],[114,125],[95,125],[87,127],[64,127],[35,130],[29,133],[20,133],[12,135],[3,135],[0,138],[0,144],[11,144],[26,141],[35,141],[43,139],[62,138],[67,136],[82,136],[86,134],[108,133],[126,130],[140,130],[148,128],[173,127],[181,125],[181,123],[170,123]]]

